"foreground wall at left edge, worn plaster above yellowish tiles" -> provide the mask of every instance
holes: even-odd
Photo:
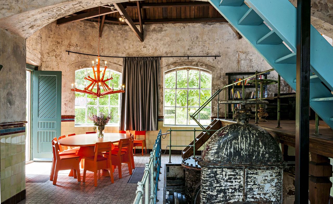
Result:
[[[26,40],[0,29],[1,202],[25,198]]]

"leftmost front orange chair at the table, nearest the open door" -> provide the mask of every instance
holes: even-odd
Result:
[[[76,154],[68,155],[59,155],[59,145],[58,142],[52,141],[53,148],[53,160],[55,161],[55,169],[52,172],[50,178],[53,178],[53,185],[57,184],[58,172],[60,170],[73,169],[74,178],[78,178],[78,181],[81,182],[80,174],[80,156]]]

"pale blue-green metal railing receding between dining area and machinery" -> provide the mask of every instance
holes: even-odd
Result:
[[[157,191],[160,181],[161,169],[161,138],[162,130],[160,129],[153,151],[150,152],[149,162],[145,164],[145,173],[142,180],[138,182],[136,196],[133,204],[142,204],[145,197],[145,204],[156,204]]]

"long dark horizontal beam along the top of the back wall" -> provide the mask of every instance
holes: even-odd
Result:
[[[126,25],[120,22],[116,18],[105,18],[106,23],[115,23],[120,25]],[[227,22],[225,18],[191,18],[191,19],[160,19],[160,20],[145,20],[144,25],[147,24],[164,24],[164,23],[217,23],[217,22]],[[133,21],[135,25],[140,25],[139,21]]]

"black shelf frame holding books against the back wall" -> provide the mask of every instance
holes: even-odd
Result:
[[[249,77],[251,75],[255,75],[255,72],[231,72],[231,73],[225,73],[225,76],[228,77],[228,84],[232,84],[234,83],[234,79],[242,79],[243,77]],[[267,79],[267,74],[263,74],[263,79]],[[234,85],[234,91],[242,91],[243,86],[242,85]],[[244,86],[245,89],[245,97],[247,97],[248,92],[255,92],[255,85],[245,85]],[[250,90],[249,90],[250,89]],[[252,90],[251,90],[252,89]],[[259,86],[258,86],[259,89]],[[228,100],[232,100],[232,96],[230,95],[230,91],[232,90],[232,86],[228,87]],[[242,93],[244,94],[244,93]],[[245,98],[245,99],[249,99],[249,98]],[[232,109],[231,109],[231,104],[228,104],[228,118],[232,118]]]

